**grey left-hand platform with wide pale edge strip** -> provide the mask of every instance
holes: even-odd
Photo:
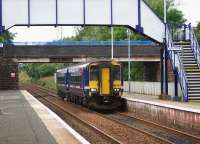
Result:
[[[27,91],[0,91],[0,144],[89,143]]]

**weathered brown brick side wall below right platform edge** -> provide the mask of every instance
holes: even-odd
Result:
[[[183,131],[190,131],[191,134],[200,134],[200,113],[148,104],[137,100],[128,101],[127,104],[128,110],[134,116]]]

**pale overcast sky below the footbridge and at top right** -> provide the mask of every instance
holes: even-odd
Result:
[[[196,25],[200,22],[200,0],[175,0],[175,2],[176,7],[183,11],[188,23]],[[53,41],[76,33],[74,27],[14,27],[10,31],[16,33],[15,42]]]

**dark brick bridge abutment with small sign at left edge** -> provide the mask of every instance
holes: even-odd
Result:
[[[18,89],[18,82],[18,63],[0,57],[0,90]]]

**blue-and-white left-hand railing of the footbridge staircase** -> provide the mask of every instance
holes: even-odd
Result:
[[[180,54],[178,53],[181,51],[181,48],[175,48],[172,34],[168,26],[166,26],[166,46],[169,58],[172,62],[173,71],[177,71],[178,73],[178,79],[184,96],[184,101],[188,101],[188,80],[186,78],[183,63],[181,62]]]

